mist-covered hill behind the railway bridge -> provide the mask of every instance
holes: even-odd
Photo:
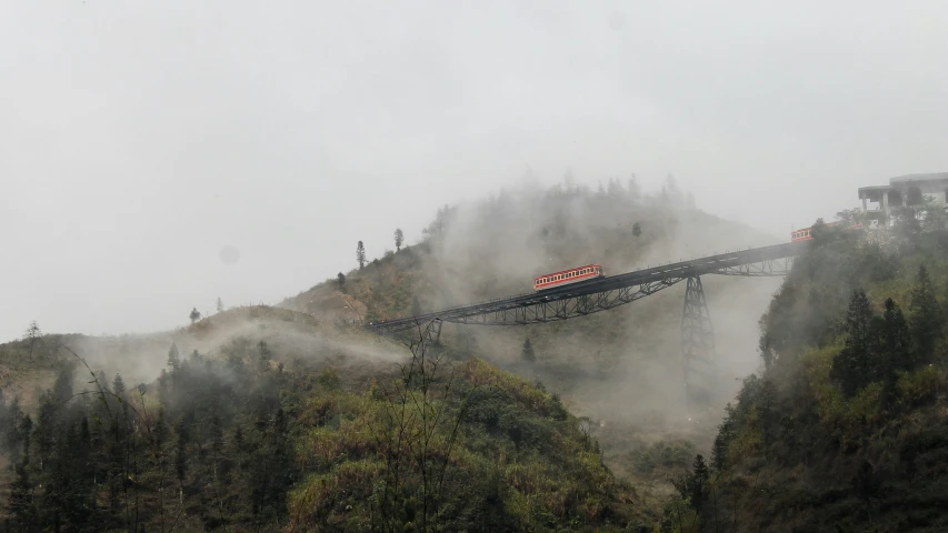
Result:
[[[282,305],[326,320],[371,321],[529,292],[536,275],[580,264],[600,263],[616,274],[788,239],[697,209],[673,179],[655,192],[635,180],[609,180],[599,190],[523,185],[440,209],[421,242],[400,250],[392,243],[382,252],[386,243],[365,242],[370,260],[363,268]],[[355,253],[352,259],[356,265]],[[758,364],[757,319],[778,286],[778,279],[705,280],[724,383],[737,385],[734,378]],[[550,324],[446,324],[442,341],[561,393],[596,422],[608,464],[631,471],[629,452],[669,433],[710,438],[717,423],[689,424],[692,415],[681,411],[683,291],[683,284],[672,286],[635,304]]]

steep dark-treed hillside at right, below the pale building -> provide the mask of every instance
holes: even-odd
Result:
[[[948,232],[928,214],[815,230],[671,531],[948,531]]]

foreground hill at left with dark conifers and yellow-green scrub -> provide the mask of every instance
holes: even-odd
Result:
[[[0,395],[2,531],[639,531],[657,519],[556,394],[480,359],[263,306],[170,336],[141,383],[98,358],[94,338],[0,345],[17,375],[51,378],[28,399]],[[123,343],[122,359],[152,365],[144,346]]]

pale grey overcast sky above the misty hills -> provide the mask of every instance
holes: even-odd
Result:
[[[948,170],[948,2],[776,4],[8,2],[0,339],[275,303],[528,168],[777,234]]]

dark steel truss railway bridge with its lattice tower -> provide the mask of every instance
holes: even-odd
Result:
[[[685,393],[689,402],[705,402],[715,388],[716,373],[715,334],[705,301],[701,275],[786,275],[794,258],[806,250],[810,242],[788,242],[668,263],[418,316],[378,321],[366,328],[378,333],[391,333],[433,322],[433,328],[429,331],[438,339],[442,322],[479,325],[553,322],[613,309],[687,281],[681,312]]]

